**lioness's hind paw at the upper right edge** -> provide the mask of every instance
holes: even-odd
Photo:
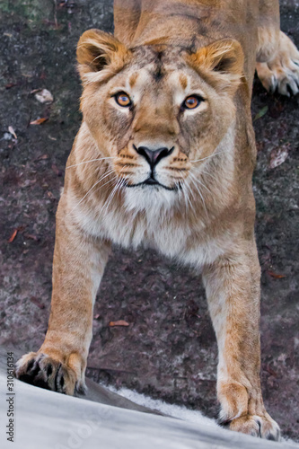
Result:
[[[282,31],[276,57],[266,63],[257,63],[256,69],[268,92],[277,90],[288,97],[299,92],[299,51]]]

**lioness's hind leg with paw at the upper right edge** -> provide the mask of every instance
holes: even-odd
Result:
[[[259,2],[257,73],[268,92],[299,92],[299,51],[280,31],[278,0]]]

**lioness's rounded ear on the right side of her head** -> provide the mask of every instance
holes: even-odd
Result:
[[[244,55],[237,40],[216,40],[189,55],[189,64],[213,87],[233,93],[241,83]]]

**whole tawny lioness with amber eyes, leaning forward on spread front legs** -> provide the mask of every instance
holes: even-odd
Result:
[[[111,242],[202,272],[219,349],[220,423],[278,440],[259,382],[252,80],[298,92],[277,0],[116,0],[115,37],[77,48],[83,123],[57,209],[48,332],[16,375],[84,390],[92,307]],[[258,62],[257,62],[258,61]]]

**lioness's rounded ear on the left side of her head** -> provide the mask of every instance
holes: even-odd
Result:
[[[77,46],[79,73],[84,83],[103,81],[115,75],[128,62],[130,51],[111,34],[88,30]]]

